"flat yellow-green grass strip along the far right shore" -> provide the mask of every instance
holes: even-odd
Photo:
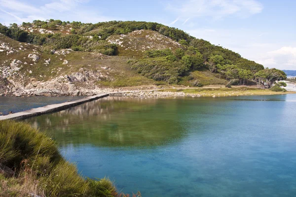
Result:
[[[184,92],[185,94],[199,95],[203,97],[283,95],[283,94],[296,93],[296,92],[273,92],[268,89],[259,89],[259,88],[194,88],[194,89],[164,89],[161,91],[162,92]]]

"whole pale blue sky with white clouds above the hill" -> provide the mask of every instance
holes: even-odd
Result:
[[[0,23],[149,21],[296,70],[296,0],[0,0]]]

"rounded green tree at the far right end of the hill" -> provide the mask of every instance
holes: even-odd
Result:
[[[257,80],[257,85],[260,86],[261,83],[270,88],[275,81],[287,79],[287,75],[284,71],[278,70],[276,68],[265,68],[255,73],[255,78]]]

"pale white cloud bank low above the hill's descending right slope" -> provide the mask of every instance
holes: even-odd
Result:
[[[262,33],[251,29],[207,28],[186,30],[186,32],[197,38],[208,40],[212,44],[220,44],[241,54],[244,58],[262,64],[264,67],[296,70],[296,42],[291,41],[289,44],[278,41],[270,42],[276,37],[272,33]]]

